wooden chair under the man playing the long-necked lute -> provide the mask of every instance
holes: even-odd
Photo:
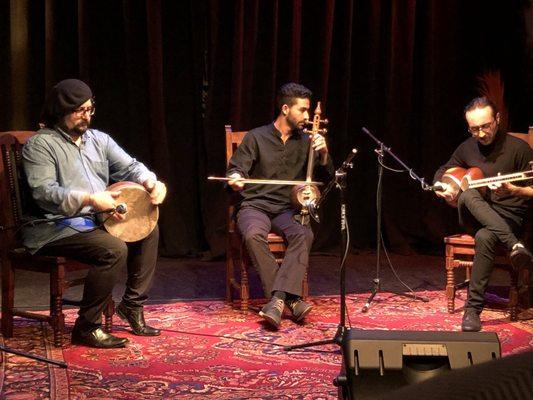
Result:
[[[510,135],[524,140],[533,148],[533,126],[529,127],[528,133],[509,132]],[[470,281],[473,259],[475,254],[474,238],[467,234],[457,234],[444,238],[446,252],[446,299],[448,312],[455,310],[455,292],[457,289],[468,286]],[[516,321],[519,305],[519,291],[527,291],[528,271],[523,271],[523,276],[518,276],[517,271],[511,266],[506,249],[498,247],[495,264],[509,272],[510,287],[507,308],[511,321]],[[466,268],[466,279],[458,284],[455,283],[455,269]]]

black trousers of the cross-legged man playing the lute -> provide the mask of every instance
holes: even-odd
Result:
[[[518,242],[523,217],[497,204],[489,204],[476,189],[463,192],[457,207],[459,222],[476,240],[476,254],[465,308],[481,312],[494,267],[496,245],[503,243],[511,250]]]

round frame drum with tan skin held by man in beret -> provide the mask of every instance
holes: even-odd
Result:
[[[106,218],[105,229],[113,236],[125,241],[136,242],[147,237],[154,230],[159,218],[159,207],[152,204],[150,193],[134,182],[117,182],[108,191],[120,191],[117,204],[126,206],[125,219]]]

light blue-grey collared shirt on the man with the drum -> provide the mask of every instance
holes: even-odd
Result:
[[[91,211],[89,206],[82,207],[86,193],[106,190],[110,180],[156,180],[153,172],[109,135],[95,129],[81,136],[79,147],[58,127],[40,129],[24,145],[22,165],[32,197],[46,218]],[[22,230],[23,244],[35,253],[46,243],[93,227],[90,218],[27,226]]]

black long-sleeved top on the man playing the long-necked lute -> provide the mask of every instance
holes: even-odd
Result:
[[[496,176],[498,173],[510,174],[530,169],[533,150],[522,139],[498,132],[489,145],[480,144],[475,138],[465,140],[457,147],[446,164],[435,173],[434,182],[440,181],[444,172],[452,167],[478,167],[485,177]],[[529,184],[529,181],[527,181]],[[516,196],[496,196],[487,191],[491,203],[513,209],[522,215],[527,209],[528,200]]]

